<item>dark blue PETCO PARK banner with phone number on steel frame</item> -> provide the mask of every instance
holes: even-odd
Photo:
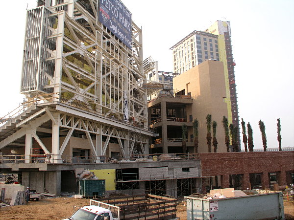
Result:
[[[120,0],[99,0],[99,22],[132,48],[132,14]]]

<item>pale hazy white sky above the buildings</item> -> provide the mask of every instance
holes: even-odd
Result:
[[[158,61],[162,71],[172,71],[173,44],[217,20],[230,21],[240,123],[250,122],[254,148],[262,148],[258,121],[264,121],[268,147],[274,148],[280,118],[282,147],[294,147],[294,0],[122,1],[142,27],[144,58]],[[35,2],[1,3],[7,10],[0,35],[0,117],[24,98],[19,91],[26,7]]]

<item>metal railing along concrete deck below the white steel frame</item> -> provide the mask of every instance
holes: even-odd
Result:
[[[27,158],[25,158],[27,157]],[[59,154],[30,154],[22,155],[0,155],[0,164],[4,163],[49,163],[49,164],[94,164],[94,163],[120,163],[120,162],[146,162],[157,161],[163,157],[170,159],[191,160],[198,159],[198,154],[119,154],[116,159],[101,156],[69,156]]]

